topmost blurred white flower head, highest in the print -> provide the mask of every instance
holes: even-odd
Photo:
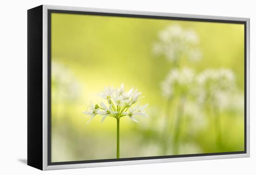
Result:
[[[169,62],[177,62],[183,56],[197,61],[202,57],[198,44],[199,38],[195,31],[171,25],[159,32],[158,41],[153,44],[153,52],[164,56]]]

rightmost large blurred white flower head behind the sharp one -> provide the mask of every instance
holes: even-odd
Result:
[[[201,103],[213,100],[215,105],[220,106],[224,96],[236,89],[235,75],[230,69],[207,69],[197,76],[196,81]]]

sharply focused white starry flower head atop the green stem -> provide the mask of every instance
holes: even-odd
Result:
[[[104,121],[106,117],[113,117],[115,119],[120,119],[121,117],[128,116],[135,122],[135,116],[145,116],[148,115],[144,112],[144,109],[148,104],[144,106],[139,106],[138,99],[140,98],[141,92],[137,89],[131,88],[128,92],[124,92],[124,85],[121,84],[119,89],[114,89],[112,87],[105,87],[104,91],[99,93],[99,96],[108,102],[108,106],[104,102],[100,105],[93,104],[91,102],[88,111],[82,112],[90,116],[88,123],[96,116],[102,116],[101,122]]]

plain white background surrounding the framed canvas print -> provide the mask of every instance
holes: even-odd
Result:
[[[255,174],[256,4],[254,0],[3,0],[0,6],[0,174]],[[41,172],[27,159],[27,9],[41,4],[190,13],[251,19],[251,157]]]

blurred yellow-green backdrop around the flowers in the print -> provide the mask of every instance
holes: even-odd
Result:
[[[243,25],[64,13],[52,13],[51,18],[52,162],[115,158],[115,119],[107,118],[101,124],[101,117],[96,116],[86,125],[89,118],[83,118],[81,112],[87,109],[90,100],[101,101],[97,94],[104,86],[119,88],[121,83],[126,91],[138,88],[145,96],[141,104],[149,103],[149,118],[139,117],[140,123],[127,117],[121,119],[121,158],[244,150],[241,101],[237,102],[242,109],[220,113],[222,146],[216,144],[211,114],[194,105],[192,109],[202,115],[183,116],[176,144],[179,149],[172,150],[171,125],[169,134],[162,131],[167,99],[162,95],[161,83],[173,65],[152,51],[159,31],[167,26],[194,30],[200,40],[202,59],[182,59],[181,68],[190,67],[195,73],[231,69],[243,97]]]

